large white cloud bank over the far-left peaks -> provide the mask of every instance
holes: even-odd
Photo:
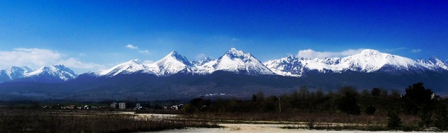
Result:
[[[54,64],[64,64],[70,69],[79,71],[90,71],[103,68],[103,65],[94,63],[84,63],[73,57],[67,60],[63,58],[63,54],[58,51],[51,51],[49,49],[41,48],[15,48],[13,51],[0,51],[0,69],[8,67],[31,67],[38,69],[44,66],[51,66]],[[79,71],[76,71],[78,73]]]

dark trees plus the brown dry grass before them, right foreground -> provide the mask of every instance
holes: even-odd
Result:
[[[438,98],[422,82],[399,91],[374,88],[358,91],[342,87],[324,94],[322,89],[301,87],[292,94],[250,100],[195,98],[184,107],[190,118],[207,121],[243,122],[286,121],[297,126],[325,130],[447,131],[448,99]]]

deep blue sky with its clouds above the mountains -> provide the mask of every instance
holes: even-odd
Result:
[[[190,60],[217,58],[231,47],[262,62],[362,48],[447,60],[447,7],[442,0],[6,0],[0,69],[65,64],[84,73],[133,59],[155,62],[171,51]]]

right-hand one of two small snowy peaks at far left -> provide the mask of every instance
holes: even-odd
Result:
[[[27,73],[24,77],[52,77],[52,78],[58,78],[60,80],[72,80],[76,78],[78,75],[74,73],[71,69],[65,67],[63,64],[58,65],[52,65],[49,67],[41,67],[38,70],[35,70],[31,73]]]

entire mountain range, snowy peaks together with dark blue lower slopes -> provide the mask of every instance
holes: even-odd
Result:
[[[251,87],[258,88],[256,89],[258,91],[273,91],[274,94],[281,94],[297,86],[327,90],[343,85],[397,89],[401,86],[406,87],[412,82],[423,81],[435,84],[431,87],[437,87],[436,90],[445,93],[443,87],[448,84],[447,73],[448,60],[443,62],[434,56],[429,60],[412,60],[399,55],[365,49],[356,55],[342,58],[307,59],[289,55],[263,63],[250,53],[231,48],[217,59],[206,57],[204,60],[190,61],[187,57],[173,51],[152,64],[130,60],[110,69],[83,73],[79,76],[63,65],[42,67],[34,71],[28,67],[10,67],[0,71],[0,82],[2,82],[0,93],[22,95],[23,92],[15,90],[30,91],[23,88],[27,87],[26,85],[36,84],[44,84],[47,88],[66,87],[70,92],[85,91],[91,94],[99,94],[99,92],[110,94],[113,90],[107,90],[110,85],[121,87],[119,90],[126,90],[126,93],[130,94],[135,94],[135,91],[139,91],[141,87],[165,90],[176,86],[176,88],[190,89],[183,94],[187,97],[202,95],[204,91],[201,90],[209,90],[213,87],[226,88],[220,90],[220,93],[239,94],[230,87],[236,90]],[[396,82],[384,80],[388,78],[393,78],[391,80]],[[368,81],[360,82],[359,80]],[[140,82],[140,85],[133,82]],[[69,85],[72,86],[67,87]],[[131,89],[134,91],[130,91]],[[47,91],[40,93],[42,96],[51,96],[52,93]],[[247,91],[247,94],[254,91],[255,89]],[[159,92],[160,94],[167,93],[166,90]],[[142,94],[146,93],[142,92]]]

